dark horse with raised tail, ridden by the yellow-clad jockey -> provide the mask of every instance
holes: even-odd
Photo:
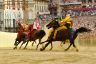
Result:
[[[69,27],[68,24],[65,25],[67,28]],[[60,27],[59,23],[57,21],[51,21],[47,26],[46,26],[48,29],[49,28],[53,28],[53,30],[57,29],[58,27]],[[76,37],[78,36],[79,33],[83,33],[83,32],[90,32],[91,30],[90,29],[87,29],[85,27],[80,27],[79,29],[77,29],[76,31],[73,31],[74,33],[72,33],[70,35],[70,30],[69,29],[62,29],[60,31],[57,32],[56,34],[56,38],[53,39],[53,35],[54,35],[54,31],[51,33],[51,35],[48,37],[48,39],[40,44],[43,44],[45,42],[48,42],[45,44],[45,47],[41,48],[40,50],[43,51],[45,50],[45,48],[51,44],[51,49],[52,50],[52,41],[63,41],[65,42],[67,39],[70,41],[70,45],[68,48],[65,49],[65,51],[67,51],[72,45],[74,48],[76,48],[76,51],[78,51],[75,43],[74,43],[74,40],[76,39]],[[72,36],[72,38],[70,38]]]

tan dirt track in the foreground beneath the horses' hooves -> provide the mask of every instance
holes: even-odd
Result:
[[[79,52],[72,49],[64,52],[62,48],[43,52],[3,48],[0,49],[0,64],[96,64],[96,50],[87,48]]]

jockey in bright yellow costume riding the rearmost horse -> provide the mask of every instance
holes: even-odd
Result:
[[[66,25],[69,25],[69,26],[66,26]],[[56,34],[57,34],[57,32],[58,32],[59,30],[62,30],[62,29],[70,29],[70,28],[72,28],[72,26],[73,26],[73,21],[72,21],[72,19],[71,19],[71,17],[70,17],[70,14],[67,14],[66,17],[65,17],[65,19],[63,19],[63,20],[60,22],[60,27],[55,30],[53,39],[56,38]],[[71,29],[70,29],[70,30],[71,30]],[[70,32],[70,30],[69,30],[69,32]]]

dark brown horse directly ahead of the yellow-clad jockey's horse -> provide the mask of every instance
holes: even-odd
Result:
[[[36,47],[36,50],[37,50],[39,44],[41,43],[41,39],[45,36],[45,34],[46,34],[46,33],[45,33],[44,30],[36,30],[36,29],[34,29],[34,32],[31,32],[31,33],[30,33],[30,38],[27,39],[27,43],[26,43],[24,49],[26,49],[29,41],[30,41],[30,42],[33,41],[33,43],[32,43],[32,46],[33,46],[34,42],[36,43],[36,40],[38,39],[38,40],[39,40],[39,43],[37,44],[37,47]]]

